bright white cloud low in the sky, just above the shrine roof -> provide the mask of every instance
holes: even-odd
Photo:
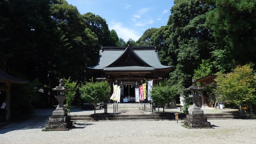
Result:
[[[108,28],[110,30],[114,29],[118,37],[123,38],[125,42],[127,42],[129,38],[132,38],[134,41],[140,38],[138,31],[124,27],[121,22],[112,21],[111,24],[108,25]]]

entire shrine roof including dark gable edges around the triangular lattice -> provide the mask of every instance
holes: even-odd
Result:
[[[127,54],[140,63],[140,65],[118,66]],[[96,66],[87,67],[91,70],[103,71],[150,71],[172,69],[173,66],[161,64],[156,47],[101,47],[99,60]]]

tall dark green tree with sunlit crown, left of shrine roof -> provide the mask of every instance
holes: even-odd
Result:
[[[94,65],[98,60],[97,36],[87,28],[77,8],[65,0],[56,0],[51,11],[52,19],[61,31],[62,42],[53,75],[83,81],[86,79],[85,67]]]

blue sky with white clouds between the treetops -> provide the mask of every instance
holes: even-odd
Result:
[[[119,38],[137,41],[148,28],[167,24],[173,0],[66,0],[81,14],[92,12],[107,21]]]

